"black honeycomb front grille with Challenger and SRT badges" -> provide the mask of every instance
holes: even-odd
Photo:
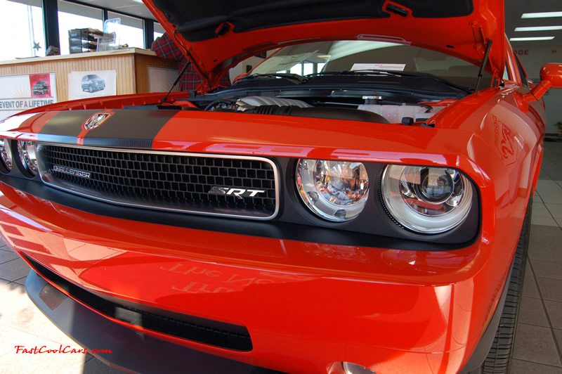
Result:
[[[261,157],[51,145],[38,153],[46,183],[100,200],[258,219],[277,211],[275,169]]]

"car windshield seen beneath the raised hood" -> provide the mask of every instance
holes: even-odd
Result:
[[[322,41],[287,46],[273,53],[251,75],[292,73],[314,75],[327,72],[390,70],[427,73],[459,86],[473,88],[480,67],[445,53],[406,44],[382,41]],[[484,72],[481,87],[490,86]]]

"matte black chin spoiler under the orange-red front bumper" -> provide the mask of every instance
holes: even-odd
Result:
[[[25,280],[25,288],[32,302],[60,330],[115,368],[134,373],[275,374],[272,370],[182,347],[113,323],[60,292],[33,270]]]

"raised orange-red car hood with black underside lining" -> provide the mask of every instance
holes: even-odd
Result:
[[[204,82],[244,58],[289,44],[358,39],[412,44],[504,69],[503,0],[143,0]]]

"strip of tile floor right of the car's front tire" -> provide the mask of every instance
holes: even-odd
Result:
[[[562,142],[545,142],[511,373],[562,373]]]

